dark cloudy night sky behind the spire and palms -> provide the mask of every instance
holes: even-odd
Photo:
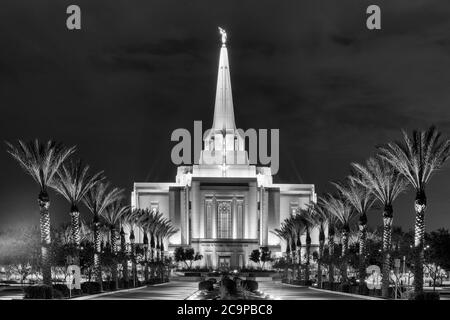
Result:
[[[66,28],[70,4],[81,31]],[[366,28],[369,4],[380,31]],[[133,182],[174,181],[171,132],[212,124],[222,26],[237,126],[279,128],[275,182],[320,194],[401,128],[450,135],[449,17],[448,0],[2,0],[0,138],[77,145],[128,196]],[[427,188],[428,230],[450,227],[449,166]],[[37,225],[38,187],[4,144],[0,168],[0,229]],[[51,197],[52,222],[68,222]],[[394,224],[412,227],[413,200],[394,203]]]

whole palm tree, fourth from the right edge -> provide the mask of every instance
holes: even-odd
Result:
[[[334,215],[336,219],[336,227],[341,231],[341,276],[343,283],[348,281],[347,279],[347,258],[348,258],[348,240],[349,233],[351,230],[351,224],[354,218],[353,206],[348,202],[347,199],[341,196],[332,196],[328,194],[322,200],[327,207],[327,210]]]

